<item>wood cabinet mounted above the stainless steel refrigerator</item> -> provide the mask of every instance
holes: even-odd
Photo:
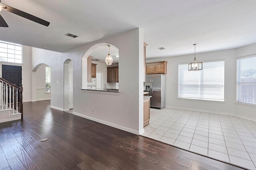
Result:
[[[166,74],[167,61],[146,63],[146,74]]]

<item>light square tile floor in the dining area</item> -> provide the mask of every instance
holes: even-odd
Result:
[[[235,116],[150,109],[142,136],[256,170],[256,122]]]

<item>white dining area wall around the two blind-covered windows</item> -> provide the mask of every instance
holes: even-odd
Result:
[[[211,111],[224,114],[242,115],[256,119],[256,107],[242,106],[236,104],[236,59],[244,55],[256,53],[256,43],[238,49],[214,51],[196,54],[198,61],[224,59],[224,100],[225,102],[211,102],[200,100],[178,99],[178,64],[193,61],[194,55],[182,55],[167,57],[162,59],[152,59],[153,61],[168,61],[166,74],[166,106],[187,108],[201,111]],[[176,84],[175,84],[176,82]],[[203,102],[201,106],[200,103]]]

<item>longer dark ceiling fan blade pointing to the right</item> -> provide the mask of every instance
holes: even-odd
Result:
[[[21,17],[26,18],[28,20],[40,23],[42,25],[45,25],[46,27],[48,27],[49,24],[50,24],[50,22],[48,22],[48,21],[42,20],[41,18],[38,18],[36,16],[33,16],[31,14],[28,14],[28,13],[23,12],[21,10],[18,10],[16,8],[12,8],[11,6],[8,6],[8,5],[5,5],[5,4],[2,4],[2,3],[0,3],[0,5],[5,7],[5,8],[2,8],[3,10],[6,10],[6,11],[11,12],[13,14],[16,14],[18,16],[21,16]]]

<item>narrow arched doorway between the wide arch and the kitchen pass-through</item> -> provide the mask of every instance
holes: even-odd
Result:
[[[73,61],[64,62],[64,111],[73,113]]]

